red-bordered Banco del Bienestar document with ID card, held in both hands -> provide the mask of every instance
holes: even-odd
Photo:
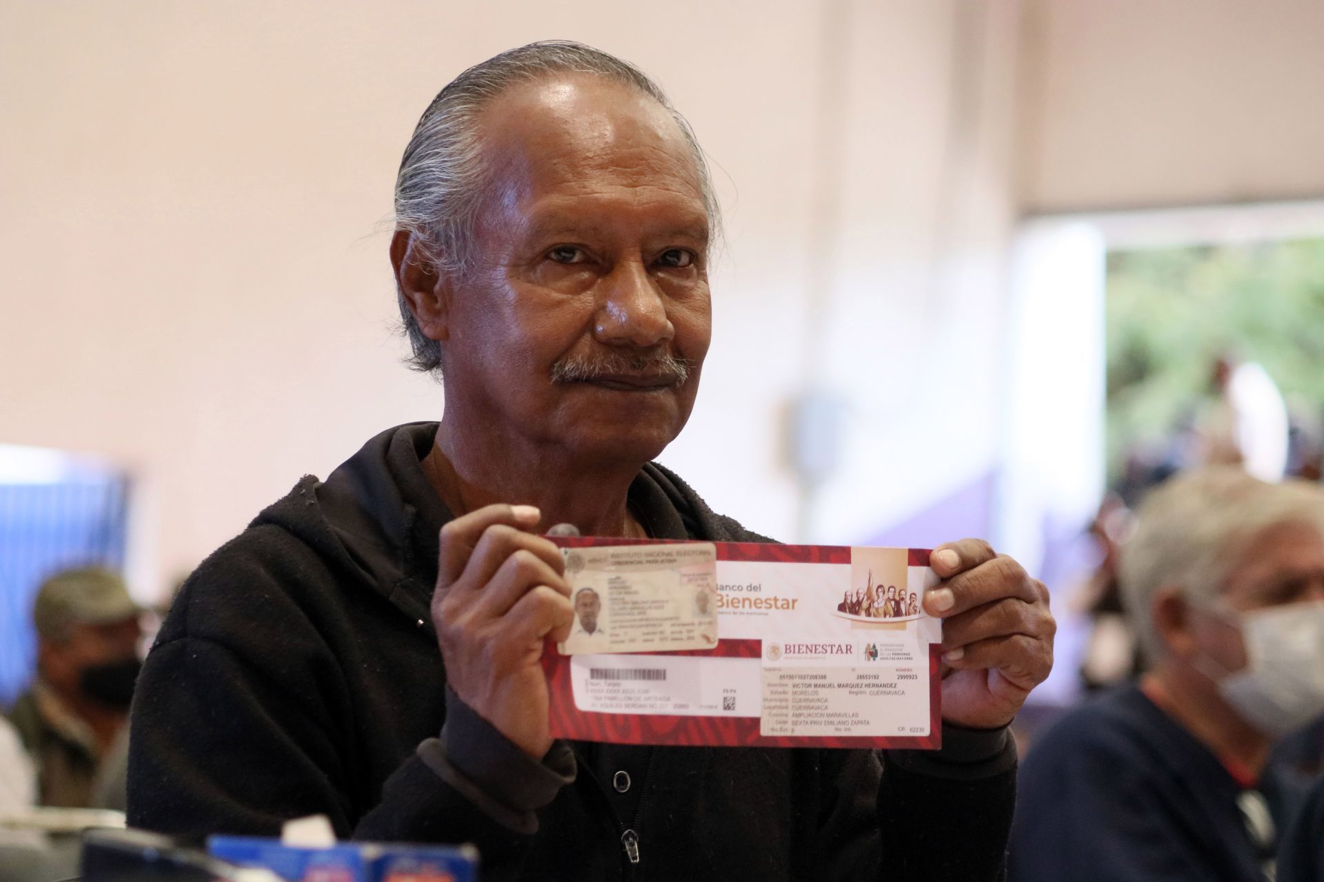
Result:
[[[571,639],[543,656],[553,737],[628,744],[941,744],[941,620],[920,603],[939,582],[927,550],[552,541],[567,557],[576,604]],[[592,588],[596,602],[580,595],[583,588]],[[624,602],[610,607],[612,592]],[[585,633],[596,643],[583,640]]]

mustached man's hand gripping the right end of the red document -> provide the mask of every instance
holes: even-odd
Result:
[[[924,594],[924,610],[943,619],[943,719],[1005,726],[1053,669],[1049,591],[981,540],[940,545],[929,566],[943,579]]]

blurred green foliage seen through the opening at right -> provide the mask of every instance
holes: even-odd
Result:
[[[1213,362],[1258,361],[1294,413],[1324,414],[1324,239],[1112,251],[1108,477],[1210,397]]]

